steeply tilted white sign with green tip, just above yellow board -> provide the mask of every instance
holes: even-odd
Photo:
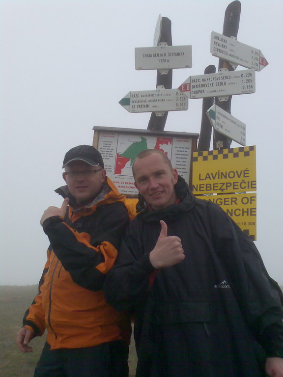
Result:
[[[246,145],[246,125],[239,121],[227,111],[217,105],[211,106],[207,111],[211,126],[220,134],[228,136],[230,139],[245,146]]]

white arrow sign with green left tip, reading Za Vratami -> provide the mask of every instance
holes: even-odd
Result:
[[[178,89],[129,92],[119,101],[129,112],[177,111],[188,109],[188,98]]]

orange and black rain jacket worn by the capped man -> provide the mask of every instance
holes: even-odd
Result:
[[[66,187],[56,192],[69,196]],[[52,216],[44,221],[51,244],[38,295],[23,325],[34,336],[47,329],[51,349],[92,347],[119,339],[129,342],[128,316],[113,309],[102,293],[129,215],[125,197],[107,178],[92,203],[76,209],[70,200],[64,219]]]

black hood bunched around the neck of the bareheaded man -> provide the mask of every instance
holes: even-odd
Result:
[[[179,203],[172,204],[162,210],[150,210],[145,202],[143,196],[139,194],[139,201],[137,203],[137,212],[141,213],[142,219],[145,221],[159,221],[170,219],[177,216],[180,212],[187,212],[192,210],[196,205],[196,198],[187,185],[184,178],[178,175],[178,181],[174,186],[176,196]]]

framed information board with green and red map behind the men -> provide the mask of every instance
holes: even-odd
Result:
[[[93,130],[93,146],[102,155],[107,176],[121,193],[138,194],[132,164],[145,149],[166,153],[178,174],[190,183],[192,155],[197,147],[198,134],[114,127],[93,127]]]

